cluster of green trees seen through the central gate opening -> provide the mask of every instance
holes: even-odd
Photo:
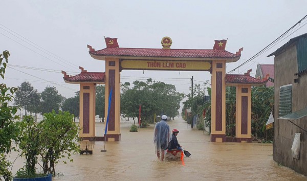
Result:
[[[124,117],[137,118],[139,122],[140,105],[142,123],[153,123],[155,114],[177,116],[184,94],[176,92],[174,85],[151,79],[134,81],[133,84],[133,88],[129,83],[122,84],[121,114]]]

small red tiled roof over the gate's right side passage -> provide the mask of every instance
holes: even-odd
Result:
[[[256,79],[250,75],[226,74],[225,82],[226,84],[263,85],[266,84],[268,80]]]

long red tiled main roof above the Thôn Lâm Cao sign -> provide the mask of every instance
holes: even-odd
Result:
[[[94,55],[89,52],[91,57],[96,60],[106,60],[107,58],[115,58],[115,59],[148,59],[148,60],[192,60],[192,61],[208,61],[208,60],[225,60],[226,63],[236,62],[240,59],[241,55],[233,58],[225,58],[225,57],[150,57],[150,56],[119,56],[119,55]]]

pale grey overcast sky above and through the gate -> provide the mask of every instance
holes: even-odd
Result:
[[[29,81],[42,92],[55,86],[64,97],[73,97],[78,84],[63,81],[70,75],[104,72],[104,61],[89,55],[87,44],[104,49],[103,36],[118,38],[121,48],[162,48],[161,39],[172,39],[171,49],[213,49],[214,40],[227,39],[226,50],[244,48],[241,59],[227,64],[227,72],[248,60],[290,29],[306,14],[307,1],[2,1],[0,51],[10,51],[5,74],[7,86]],[[306,20],[273,48],[239,67],[244,74],[257,64],[273,64],[270,53],[291,38],[307,32]],[[39,70],[37,70],[39,69]],[[190,92],[190,79],[203,83],[209,72],[130,71],[121,82],[152,78]],[[0,80],[2,81],[2,80]]]

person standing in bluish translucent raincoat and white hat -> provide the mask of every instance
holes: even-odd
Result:
[[[155,143],[158,159],[164,160],[164,151],[168,147],[168,143],[171,141],[169,126],[166,123],[167,116],[163,115],[161,121],[155,126],[155,134],[153,135],[153,142]]]

